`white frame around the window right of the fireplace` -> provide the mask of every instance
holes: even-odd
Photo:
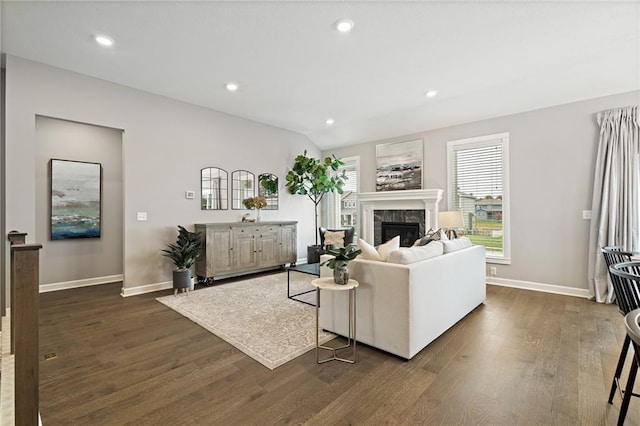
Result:
[[[480,148],[484,146],[497,145],[502,147],[502,255],[487,253],[487,263],[497,263],[503,265],[511,264],[511,197],[509,195],[509,132],[496,133],[492,135],[477,136],[466,139],[457,139],[447,142],[447,201],[449,208],[453,208],[453,170],[452,161],[454,151],[469,148]]]

